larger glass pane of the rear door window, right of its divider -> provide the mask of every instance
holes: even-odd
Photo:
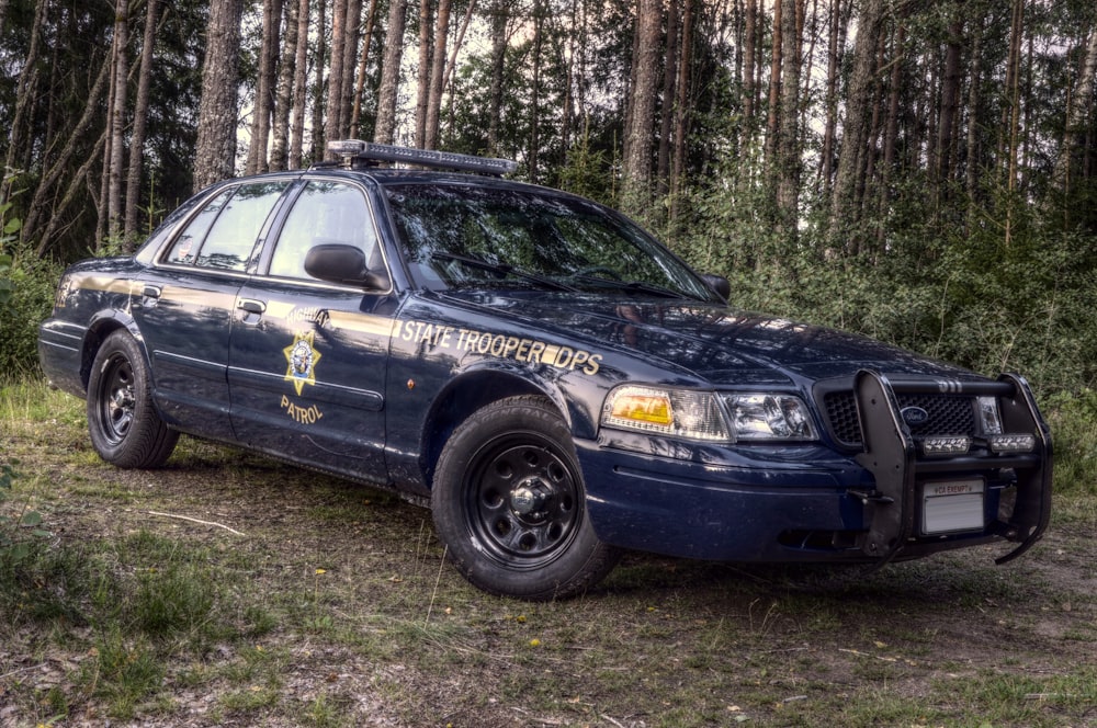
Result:
[[[197,265],[227,271],[248,266],[256,239],[287,181],[244,184],[214,220],[199,252]]]

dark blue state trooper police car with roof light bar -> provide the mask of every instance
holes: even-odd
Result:
[[[1005,561],[1047,527],[1021,377],[738,310],[613,211],[502,179],[513,162],[332,149],[64,274],[39,359],[105,460],[154,468],[189,433],[392,489],[472,583],[529,600],[622,549],[884,565],[1000,542]]]

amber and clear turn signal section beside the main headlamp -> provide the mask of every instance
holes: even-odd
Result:
[[[602,424],[691,440],[728,440],[720,405],[706,391],[618,387],[602,406]]]

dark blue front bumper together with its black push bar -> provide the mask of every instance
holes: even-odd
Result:
[[[1017,546],[998,561],[1015,558],[1048,525],[1050,433],[1019,377],[963,386],[997,395],[1005,428],[1036,434],[1036,451],[919,458],[891,383],[862,372],[855,388],[864,445],[853,457],[817,446],[670,456],[665,445],[642,454],[578,441],[591,524],[615,546],[710,560],[883,565],[1003,539]],[[923,533],[921,489],[942,479],[982,484],[980,527]]]

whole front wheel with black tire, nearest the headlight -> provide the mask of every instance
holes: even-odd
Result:
[[[530,601],[586,591],[617,564],[598,541],[567,425],[540,397],[473,413],[438,458],[431,510],[448,555],[476,587]]]

